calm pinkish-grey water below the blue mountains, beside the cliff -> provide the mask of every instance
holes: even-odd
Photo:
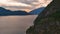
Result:
[[[0,34],[26,34],[37,15],[0,16]]]

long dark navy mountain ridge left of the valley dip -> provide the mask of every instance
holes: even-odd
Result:
[[[5,15],[28,15],[27,12],[25,11],[11,11],[7,10],[3,7],[0,7],[0,16],[5,16]]]

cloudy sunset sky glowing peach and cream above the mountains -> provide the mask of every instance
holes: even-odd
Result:
[[[0,7],[15,11],[23,10],[30,12],[31,10],[46,7],[52,0],[0,0]]]

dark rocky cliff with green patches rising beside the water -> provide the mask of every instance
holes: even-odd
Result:
[[[34,25],[27,29],[26,34],[60,34],[60,0],[53,0],[43,10]]]

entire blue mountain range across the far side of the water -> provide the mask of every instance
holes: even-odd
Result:
[[[0,7],[0,16],[5,16],[5,15],[37,15],[39,14],[42,10],[44,9],[44,7],[32,10],[31,12],[27,13],[26,11],[11,11],[11,10],[7,10],[3,7]]]

